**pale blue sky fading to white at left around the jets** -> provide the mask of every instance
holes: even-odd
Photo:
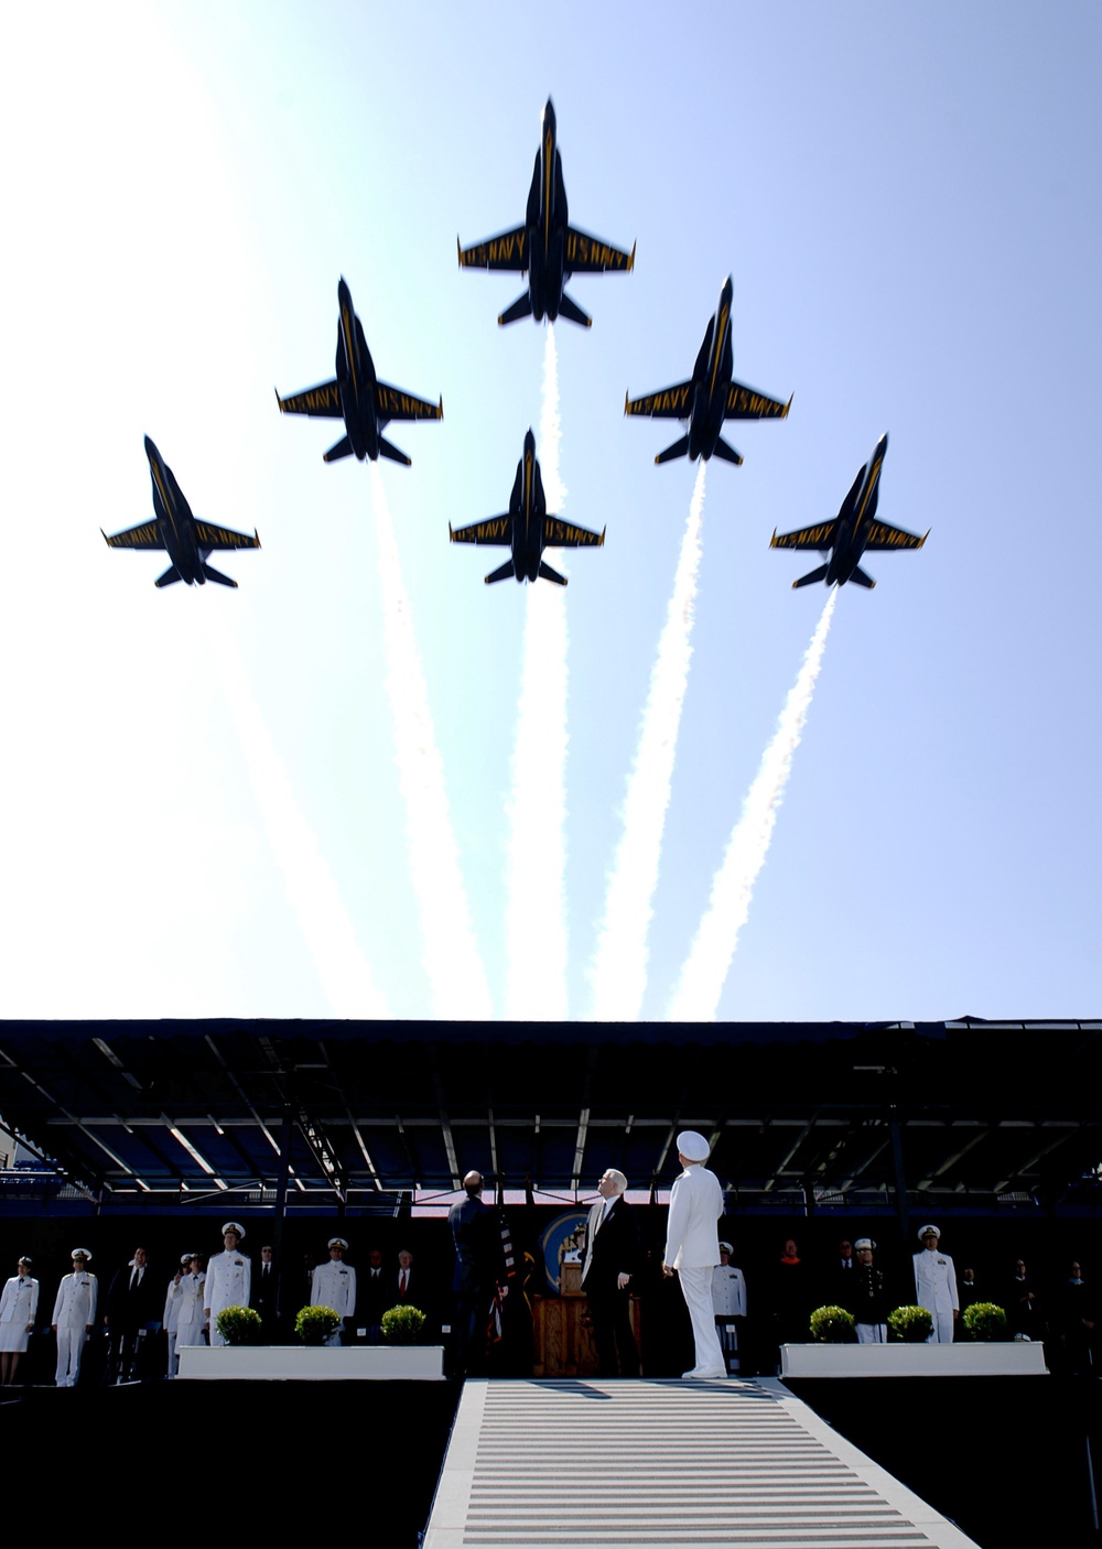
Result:
[[[462,1015],[474,956],[508,1010],[539,589],[487,589],[448,522],[505,508],[544,336],[498,328],[521,283],[454,243],[522,218],[549,93],[572,222],[639,248],[573,282],[592,330],[555,330],[563,510],[608,541],[563,598],[567,962],[538,994],[591,1015],[693,491],[653,462],[676,428],[623,395],[690,373],[730,273],[735,375],[794,404],[707,472],[643,1015],[826,599],[770,533],[831,517],[883,431],[880,514],[930,539],[837,599],[719,1016],[1097,1015],[1100,45],[1088,3],[12,15],[0,1015]],[[380,375],[445,404],[378,474],[457,849],[439,886],[395,764],[372,471],[324,466],[332,428],[273,397],[332,375],[339,274]],[[197,514],[259,528],[222,565],[237,592],[157,592],[155,556],[104,545],[150,514],[144,434]],[[426,894],[457,919],[456,888],[471,931],[426,946]],[[521,912],[553,929],[553,898]]]

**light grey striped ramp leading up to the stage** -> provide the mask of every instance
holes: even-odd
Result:
[[[425,1549],[973,1544],[777,1380],[467,1382]]]

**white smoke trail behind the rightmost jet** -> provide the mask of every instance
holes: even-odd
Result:
[[[777,809],[784,796],[792,754],[800,747],[803,726],[823,663],[826,635],[834,615],[837,587],[831,587],[815,634],[795,683],[784,700],[777,734],[761,756],[761,765],[747,792],[742,813],[735,824],[727,853],[711,883],[711,898],[701,920],[666,1016],[671,1022],[713,1022],[719,996],[732,965],[738,932],[750,912],[758,872],[766,863],[773,836]]]

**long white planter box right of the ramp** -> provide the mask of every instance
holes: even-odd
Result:
[[[1009,1345],[781,1345],[781,1377],[1035,1377],[1045,1346]]]

